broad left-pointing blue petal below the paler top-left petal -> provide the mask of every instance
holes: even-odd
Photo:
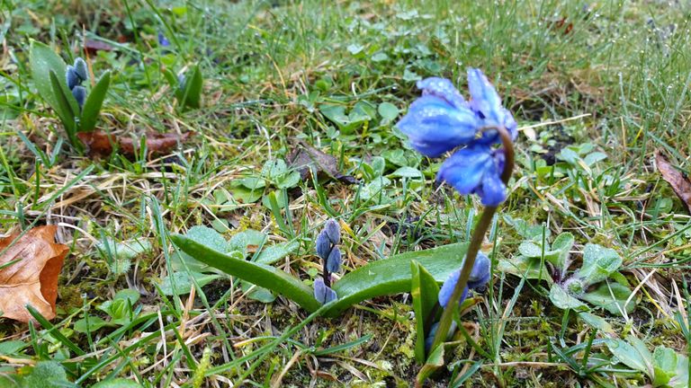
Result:
[[[480,121],[467,108],[456,108],[434,95],[425,95],[410,105],[397,127],[421,154],[435,157],[471,142]]]

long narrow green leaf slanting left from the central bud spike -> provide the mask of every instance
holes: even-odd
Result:
[[[299,279],[293,278],[281,269],[214,251],[212,248],[195,242],[184,235],[175,234],[171,236],[171,239],[178,248],[196,260],[220,269],[231,276],[285,295],[310,312],[316,311],[321,306],[312,295],[311,287],[307,287]]]

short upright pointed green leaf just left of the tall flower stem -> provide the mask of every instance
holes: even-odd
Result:
[[[427,327],[429,314],[437,304],[439,285],[436,279],[416,260],[410,260],[410,295],[413,297],[413,311],[415,311],[415,326],[417,338],[415,340],[415,359],[419,364],[425,362],[425,340],[431,327]]]

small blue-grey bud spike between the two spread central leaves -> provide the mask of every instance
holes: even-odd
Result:
[[[329,219],[317,236],[317,254],[323,260],[323,278],[314,281],[314,297],[321,304],[328,304],[337,298],[336,291],[331,289],[331,274],[341,269],[341,227],[337,220]]]

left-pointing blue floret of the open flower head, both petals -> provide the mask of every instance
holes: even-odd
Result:
[[[422,97],[396,125],[417,152],[435,157],[475,138],[480,120],[451,81],[426,78],[417,87]]]

